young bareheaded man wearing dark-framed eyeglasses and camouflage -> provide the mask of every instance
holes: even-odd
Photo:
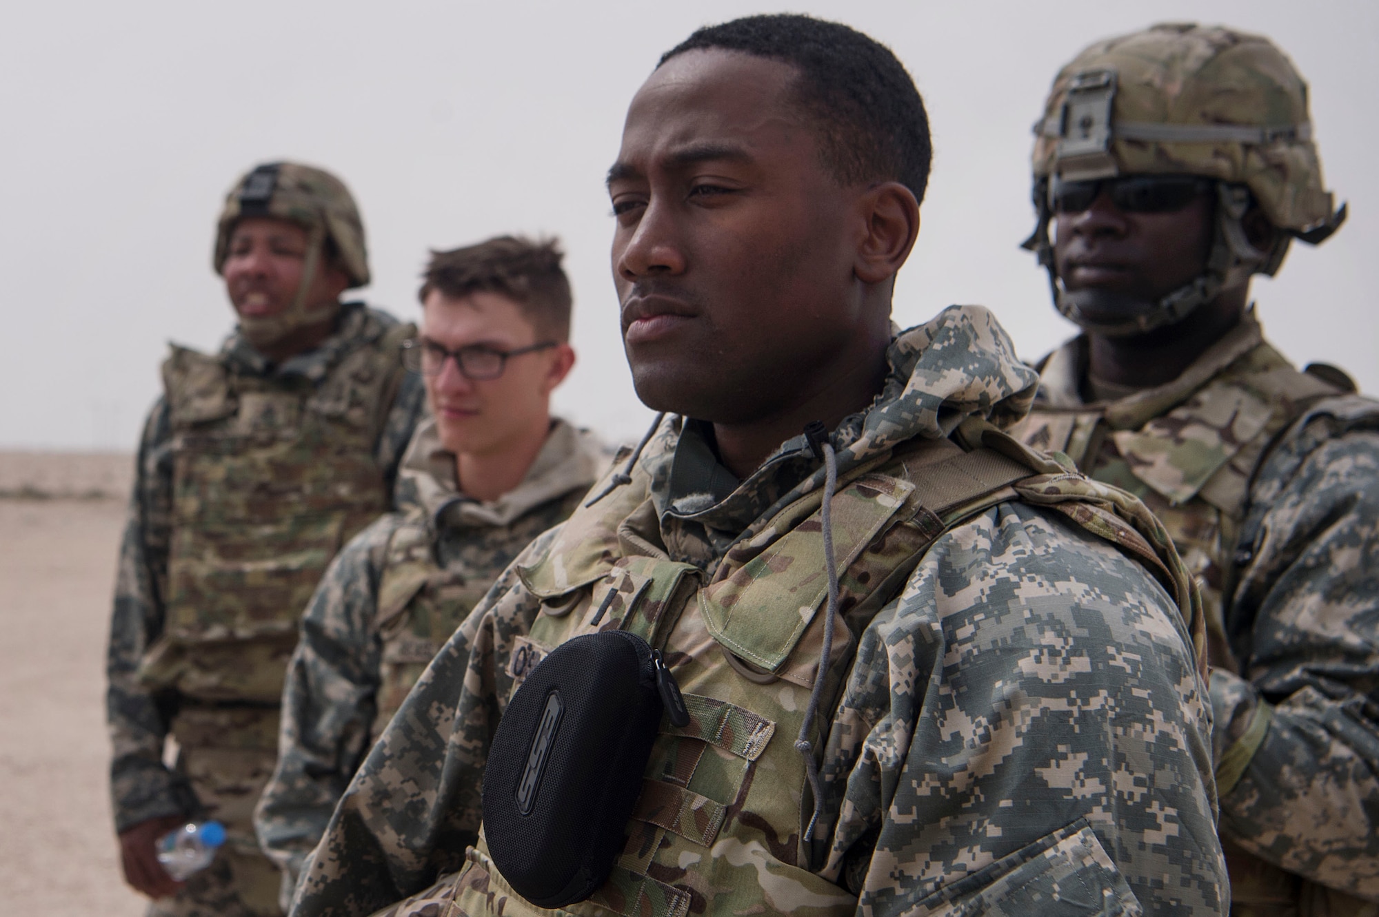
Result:
[[[350,541],[316,589],[288,668],[277,770],[255,812],[284,899],[432,657],[607,464],[592,434],[550,416],[575,362],[560,262],[554,241],[498,237],[434,252],[426,268],[422,333],[403,346],[432,409],[403,458],[399,490],[412,505]]]

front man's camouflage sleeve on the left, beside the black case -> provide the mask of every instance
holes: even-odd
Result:
[[[541,610],[516,567],[543,554],[556,531],[519,555],[407,695],[308,858],[292,917],[370,914],[463,863],[479,840],[499,716],[495,660],[507,658]]]

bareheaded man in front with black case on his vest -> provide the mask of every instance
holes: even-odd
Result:
[[[627,361],[666,414],[436,655],[296,917],[1225,907],[1167,533],[1001,431],[1036,376],[989,311],[891,325],[928,167],[913,80],[847,26],[749,17],[662,58],[608,191]],[[616,750],[570,712],[597,693],[524,694],[581,640],[648,647],[683,708],[638,734],[645,767],[557,792]],[[634,799],[568,836],[523,828],[614,786]]]

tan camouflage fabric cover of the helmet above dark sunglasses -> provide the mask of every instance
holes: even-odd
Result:
[[[1121,175],[1187,173],[1247,185],[1280,229],[1306,231],[1331,219],[1333,200],[1311,140],[1307,84],[1267,39],[1220,26],[1157,25],[1078,54],[1054,80],[1036,125],[1036,179],[1059,168],[1059,136],[1045,125],[1059,124],[1077,74],[1094,70],[1117,74],[1109,153]],[[1267,143],[1187,143],[1118,138],[1118,123],[1281,131]],[[1287,131],[1303,125],[1300,134]]]

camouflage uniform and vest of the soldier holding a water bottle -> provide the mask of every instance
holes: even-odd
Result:
[[[341,540],[386,508],[425,412],[421,380],[393,369],[396,350],[383,359],[405,333],[350,303],[321,347],[280,365],[239,333],[215,358],[175,348],[172,387],[139,445],[108,658],[116,830],[217,815],[230,829],[226,858],[251,863],[236,874],[272,883],[261,913],[277,907],[277,876],[251,814],[272,774],[295,618]],[[298,516],[298,505],[317,512]],[[181,746],[172,770],[170,735]]]

